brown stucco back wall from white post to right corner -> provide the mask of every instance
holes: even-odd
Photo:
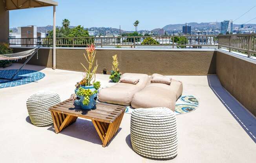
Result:
[[[88,64],[84,49],[57,49],[57,69],[84,71]],[[118,54],[121,72],[145,74],[216,74],[214,51],[164,51],[164,50],[106,50],[98,49],[96,59],[102,73],[104,67],[109,74],[112,69],[112,56]]]

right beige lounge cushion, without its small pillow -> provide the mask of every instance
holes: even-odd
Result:
[[[154,76],[151,76],[150,80]],[[131,105],[133,108],[167,107],[174,111],[182,91],[183,85],[178,80],[172,79],[170,85],[149,82],[143,90],[133,95]]]

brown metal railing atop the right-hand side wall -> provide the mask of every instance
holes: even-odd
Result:
[[[256,54],[256,34],[223,34],[218,35],[218,47],[225,47],[230,51],[238,51],[251,57]]]

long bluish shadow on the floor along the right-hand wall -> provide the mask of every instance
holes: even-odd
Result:
[[[217,75],[208,75],[207,79],[214,94],[256,143],[256,119],[254,116],[222,87]]]

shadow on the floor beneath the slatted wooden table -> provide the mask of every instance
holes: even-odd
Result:
[[[116,135],[120,132],[121,129],[122,128],[119,128],[117,130]],[[55,133],[54,126],[49,127],[48,130],[53,131]],[[63,129],[58,134],[64,134],[67,136],[71,136],[73,138],[77,138],[77,139],[81,139],[84,141],[89,141],[94,144],[102,145],[101,139],[100,139],[96,129],[94,128],[93,123],[89,120],[77,118],[75,123],[69,125],[67,128]],[[110,140],[108,145],[115,138],[115,136]]]

